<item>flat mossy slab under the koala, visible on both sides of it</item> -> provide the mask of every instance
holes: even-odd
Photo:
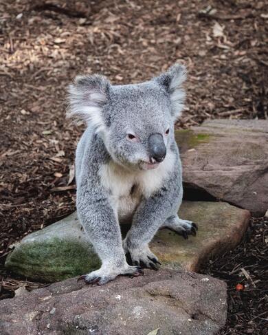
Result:
[[[249,212],[224,202],[183,202],[179,215],[199,226],[197,237],[183,239],[159,230],[150,244],[165,268],[198,271],[201,263],[234,248],[249,222]],[[122,227],[124,233],[126,226]],[[100,261],[73,213],[25,237],[5,262],[28,279],[54,282],[95,270]]]

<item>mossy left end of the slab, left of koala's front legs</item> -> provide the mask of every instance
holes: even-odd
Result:
[[[49,283],[99,267],[100,260],[87,241],[76,213],[27,235],[5,261],[8,270]]]

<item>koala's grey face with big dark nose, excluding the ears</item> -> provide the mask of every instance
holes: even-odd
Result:
[[[104,107],[104,142],[116,162],[133,169],[155,169],[173,136],[171,102],[155,83],[113,86]]]

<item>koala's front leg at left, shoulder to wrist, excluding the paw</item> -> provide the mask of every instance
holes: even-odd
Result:
[[[100,142],[92,140],[91,129],[82,136],[76,151],[76,207],[78,217],[102,264],[125,262],[120,226],[109,201],[109,194],[100,184],[98,169],[105,157]]]

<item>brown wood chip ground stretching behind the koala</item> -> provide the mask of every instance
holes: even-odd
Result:
[[[2,262],[10,244],[75,208],[72,166],[83,127],[65,120],[65,95],[76,74],[135,83],[181,62],[189,72],[188,100],[177,127],[267,118],[265,5],[0,0]],[[262,334],[228,326],[222,334]]]

